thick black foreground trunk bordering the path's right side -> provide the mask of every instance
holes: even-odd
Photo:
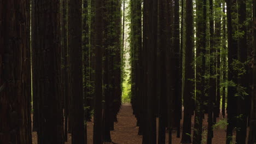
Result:
[[[146,53],[146,124],[143,134],[143,143],[156,143],[156,118],[154,112],[154,103],[156,100],[155,81],[156,81],[156,47],[157,47],[157,29],[158,29],[158,2],[153,0],[144,0],[143,8],[143,49]],[[147,50],[146,50],[147,49]]]

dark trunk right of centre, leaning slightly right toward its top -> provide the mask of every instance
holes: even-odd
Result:
[[[193,49],[194,49],[194,32],[193,32],[193,1],[186,0],[186,42],[185,42],[185,82],[184,82],[184,122],[181,143],[191,143],[191,115],[193,114]]]

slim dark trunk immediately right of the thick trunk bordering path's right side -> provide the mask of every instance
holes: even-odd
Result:
[[[166,95],[166,51],[169,48],[167,45],[168,32],[168,1],[159,1],[159,67],[160,67],[160,93],[159,93],[159,130],[158,143],[165,143],[165,129],[167,127],[167,95]],[[169,30],[169,31],[168,31]],[[170,41],[170,40],[169,40]]]

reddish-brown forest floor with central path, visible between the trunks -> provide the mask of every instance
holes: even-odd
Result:
[[[192,118],[194,119],[194,117]],[[203,120],[203,129],[207,130],[207,117]],[[219,119],[218,119],[219,120]],[[218,121],[217,120],[217,121]],[[183,125],[181,123],[181,125]],[[194,122],[192,122],[192,126]],[[220,123],[220,126],[223,126]],[[92,132],[93,132],[93,123],[88,122],[88,144],[92,144]],[[138,134],[138,127],[136,127],[136,118],[132,115],[131,104],[123,104],[121,106],[120,112],[118,114],[118,123],[114,124],[114,131],[111,131],[112,141],[116,144],[140,144],[142,143],[142,136]],[[182,128],[181,128],[182,129]],[[176,131],[172,133],[172,143],[178,144],[181,142],[181,138],[176,137]],[[192,134],[193,136],[193,129]],[[181,132],[182,136],[182,132]],[[226,131],[221,128],[214,130],[214,137],[212,140],[213,144],[224,144],[225,143]],[[203,133],[203,143],[206,143],[207,133]],[[168,134],[166,133],[166,139],[168,140]],[[32,133],[32,143],[37,144],[37,134],[36,132]],[[168,143],[168,141],[166,141]],[[68,136],[68,142],[65,144],[71,144],[71,135]]]

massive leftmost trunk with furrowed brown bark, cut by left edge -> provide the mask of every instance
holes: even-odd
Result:
[[[0,143],[32,143],[28,2],[0,2]]]

